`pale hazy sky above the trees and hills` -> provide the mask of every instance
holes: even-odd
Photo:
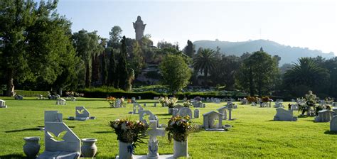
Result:
[[[58,13],[109,38],[112,26],[135,38],[132,22],[141,16],[145,34],[159,40],[274,40],[337,55],[337,1],[112,1],[60,0]],[[225,50],[223,50],[225,51]]]

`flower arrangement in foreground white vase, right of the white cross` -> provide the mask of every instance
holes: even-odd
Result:
[[[190,116],[172,116],[165,128],[168,131],[167,136],[169,141],[171,142],[172,138],[178,142],[186,141],[188,133],[192,128],[191,123]]]

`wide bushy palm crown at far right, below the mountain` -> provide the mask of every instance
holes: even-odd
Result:
[[[326,82],[329,76],[327,70],[320,67],[313,58],[301,57],[298,61],[284,74],[287,84],[314,87]]]

